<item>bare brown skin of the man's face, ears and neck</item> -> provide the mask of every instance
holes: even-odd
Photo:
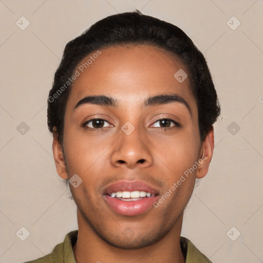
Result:
[[[189,79],[179,83],[174,78],[178,69],[187,69],[173,55],[147,45],[109,47],[101,52],[70,92],[64,155],[55,128],[53,132],[58,174],[63,179],[77,174],[83,180],[77,188],[69,184],[78,208],[79,236],[73,247],[74,256],[78,263],[184,262],[180,249],[183,210],[195,179],[208,172],[214,148],[213,128],[201,142],[197,104]],[[144,106],[148,97],[171,93],[181,96],[191,113],[180,102]],[[115,97],[118,105],[86,103],[74,108],[90,95]],[[95,117],[107,120],[102,129],[94,128],[91,122],[88,126],[93,130],[83,127]],[[180,127],[171,123],[161,129],[160,118],[171,118]],[[135,127],[130,135],[121,129],[127,121]],[[202,155],[206,159],[158,208],[123,216],[112,211],[103,199],[102,189],[107,185],[138,179],[162,196]],[[133,233],[128,237],[124,234],[127,229]]]

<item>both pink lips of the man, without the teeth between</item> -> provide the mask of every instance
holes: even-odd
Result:
[[[110,197],[111,193],[123,191],[145,191],[154,196],[140,197],[136,201],[123,201],[121,199]],[[109,207],[120,215],[136,216],[145,213],[152,208],[153,203],[159,198],[158,191],[142,181],[120,181],[109,185],[104,191],[104,200]]]

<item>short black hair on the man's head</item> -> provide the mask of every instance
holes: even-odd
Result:
[[[72,86],[70,78],[78,64],[87,55],[102,48],[139,44],[170,51],[186,66],[198,107],[200,139],[205,139],[220,114],[220,105],[203,54],[177,26],[136,10],[103,18],[67,43],[49,91],[47,110],[48,128],[52,132],[53,127],[57,127],[61,144],[65,109]]]

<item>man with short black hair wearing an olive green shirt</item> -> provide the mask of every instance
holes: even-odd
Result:
[[[172,24],[128,12],[70,41],[48,126],[79,229],[30,262],[211,262],[180,233],[219,112],[203,55]]]

